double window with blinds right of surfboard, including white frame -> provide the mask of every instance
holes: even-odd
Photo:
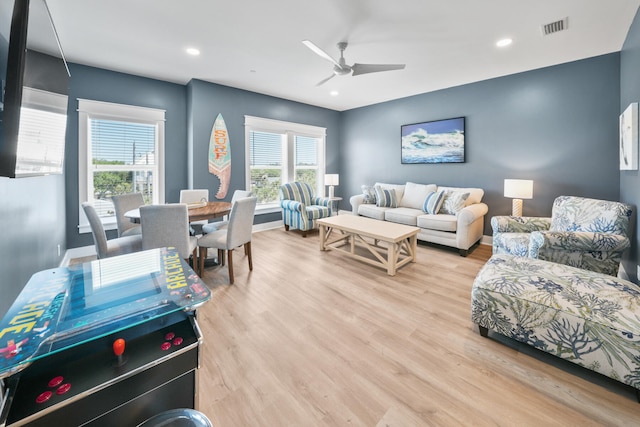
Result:
[[[325,128],[245,116],[247,189],[258,210],[279,207],[285,182],[303,181],[324,194]]]

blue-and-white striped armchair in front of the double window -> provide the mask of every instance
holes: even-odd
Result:
[[[284,229],[302,231],[302,237],[315,226],[315,220],[331,216],[331,200],[316,197],[309,184],[289,182],[280,186],[280,207]]]

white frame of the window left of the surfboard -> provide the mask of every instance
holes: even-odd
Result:
[[[155,160],[153,173],[157,176],[157,191],[154,188],[153,203],[162,204],[165,201],[165,110],[157,108],[139,107],[135,105],[116,104],[111,102],[94,101],[78,98],[78,230],[82,233],[90,233],[89,221],[82,209],[82,203],[93,201],[93,194],[89,194],[89,178],[93,172],[91,159],[90,120],[114,120],[151,124],[156,126]],[[135,170],[135,165],[130,165]],[[144,167],[148,169],[147,166]],[[107,168],[105,168],[107,170]],[[115,215],[101,218],[105,230],[117,229]]]

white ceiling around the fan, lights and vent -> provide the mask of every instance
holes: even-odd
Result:
[[[338,111],[619,51],[640,0],[47,0],[70,62]],[[541,26],[568,17],[568,30]],[[498,49],[498,39],[513,44]],[[337,76],[348,64],[406,69]],[[185,53],[197,47],[198,57]],[[337,90],[338,96],[329,92]]]

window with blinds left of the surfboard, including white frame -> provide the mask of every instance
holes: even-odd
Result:
[[[80,204],[92,202],[112,228],[115,195],[142,193],[146,203],[163,203],[164,111],[78,101]],[[87,225],[81,213],[81,231]]]

